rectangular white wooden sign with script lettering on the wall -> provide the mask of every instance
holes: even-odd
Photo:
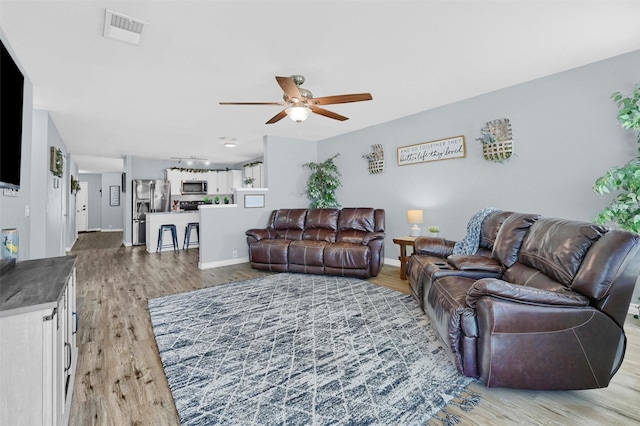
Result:
[[[464,136],[454,136],[452,138],[399,147],[398,165],[406,166],[408,164],[450,160],[466,156],[467,150],[464,144]]]

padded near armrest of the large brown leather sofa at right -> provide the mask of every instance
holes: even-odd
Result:
[[[483,296],[536,305],[589,306],[589,298],[569,290],[565,292],[541,290],[497,278],[482,278],[476,281],[467,291],[467,305],[474,307],[477,300]]]

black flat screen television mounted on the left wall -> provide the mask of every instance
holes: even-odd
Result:
[[[24,76],[0,45],[0,188],[20,189]]]

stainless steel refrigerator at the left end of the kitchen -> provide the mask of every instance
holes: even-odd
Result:
[[[167,180],[134,179],[131,196],[131,244],[140,246],[147,243],[147,214],[168,212],[170,209],[171,183]]]

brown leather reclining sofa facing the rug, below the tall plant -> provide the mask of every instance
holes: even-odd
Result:
[[[384,210],[274,210],[264,229],[246,232],[254,269],[375,277],[384,250]]]

